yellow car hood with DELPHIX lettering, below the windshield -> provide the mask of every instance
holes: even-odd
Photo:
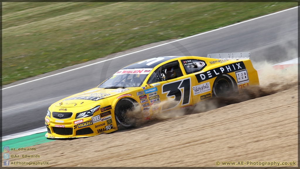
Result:
[[[55,106],[57,107],[80,107],[85,106],[89,103],[112,97],[121,93],[127,93],[133,88],[118,88],[118,89],[104,89],[104,88],[93,88],[88,91],[84,91],[78,94],[64,98],[59,101]]]

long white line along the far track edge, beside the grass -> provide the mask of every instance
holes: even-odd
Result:
[[[294,8],[298,8],[298,6],[296,6],[296,7],[294,7]],[[182,41],[182,40],[184,40],[184,39],[188,39],[188,38],[192,38],[192,37],[195,37],[195,36],[203,35],[203,34],[206,34],[206,33],[209,33],[209,32],[214,32],[214,31],[217,31],[217,30],[220,30],[220,29],[228,28],[228,27],[230,27],[230,26],[235,26],[235,25],[238,25],[238,24],[241,24],[241,23],[245,23],[245,22],[249,22],[249,21],[251,21],[251,20],[256,20],[256,19],[259,19],[259,18],[262,18],[262,17],[266,17],[266,16],[278,14],[278,13],[280,13],[280,12],[288,11],[288,10],[291,10],[291,9],[294,9],[294,8],[289,8],[289,9],[286,9],[286,10],[283,10],[283,11],[279,11],[279,12],[275,12],[275,13],[272,13],[272,14],[264,15],[264,16],[257,17],[257,18],[253,18],[253,19],[250,19],[250,20],[245,20],[245,21],[243,21],[243,22],[235,23],[235,24],[232,24],[232,25],[224,26],[224,27],[222,27],[222,28],[218,28],[218,29],[214,29],[214,30],[211,30],[211,31],[199,33],[199,34],[196,34],[196,35],[193,35],[193,36],[189,36],[189,37],[186,37],[186,38],[178,39],[178,40],[176,40],[176,41],[172,41],[172,42],[164,43],[164,44],[161,44],[161,45],[153,46],[153,47],[151,47],[151,48],[147,48],[147,49],[143,49],[143,50],[140,50],[140,51],[132,52],[132,53],[129,53],[129,54],[121,55],[121,56],[114,57],[114,58],[107,59],[107,60],[103,60],[103,61],[100,61],[100,62],[97,62],[97,63],[92,63],[92,64],[85,65],[85,66],[82,66],[82,67],[78,67],[78,68],[75,68],[75,69],[67,70],[67,71],[65,71],[65,72],[56,73],[56,74],[54,74],[54,75],[49,75],[49,76],[46,76],[46,77],[43,77],[43,78],[48,78],[48,77],[51,77],[51,76],[59,75],[59,74],[66,73],[66,72],[70,72],[70,71],[77,70],[77,69],[81,69],[81,68],[84,68],[84,67],[87,67],[87,66],[95,65],[95,64],[102,63],[102,62],[105,62],[105,61],[108,61],[108,60],[113,60],[113,59],[116,59],[116,58],[119,58],[119,57],[127,56],[127,55],[134,54],[134,53],[138,53],[138,52],[141,52],[141,51],[146,51],[146,50],[148,50],[148,49],[152,49],[152,48],[156,48],[156,47],[159,47],[159,46],[167,45],[167,44],[170,44],[170,43],[173,43],[173,42]],[[32,80],[32,81],[41,80],[41,79],[43,79],[43,78],[38,78],[38,79],[35,79],[35,80]],[[21,84],[26,84],[26,83],[29,83],[29,82],[32,82],[32,81],[27,81],[27,82],[24,82],[24,83],[21,83]],[[19,86],[19,85],[21,85],[21,84],[16,84],[16,85],[13,85],[13,86],[10,86],[10,87],[7,87],[7,88],[3,88],[3,89],[1,89],[1,90],[8,89],[8,88],[12,88],[12,87],[15,87],[15,86]]]

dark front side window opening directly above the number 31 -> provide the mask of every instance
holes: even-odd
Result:
[[[147,84],[171,80],[183,76],[178,61],[173,61],[156,69],[150,76]]]

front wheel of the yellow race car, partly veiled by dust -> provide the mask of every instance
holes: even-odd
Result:
[[[137,127],[142,120],[139,104],[131,98],[123,98],[115,106],[115,118],[118,129]]]

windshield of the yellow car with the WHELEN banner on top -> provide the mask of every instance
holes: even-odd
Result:
[[[140,86],[152,69],[123,69],[116,72],[98,88],[128,88]]]

